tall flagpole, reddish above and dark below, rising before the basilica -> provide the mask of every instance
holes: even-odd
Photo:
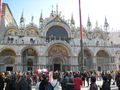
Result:
[[[81,15],[81,1],[79,0],[79,18],[80,18],[80,47],[81,47],[81,60],[79,59],[79,70],[84,72],[84,51],[83,51],[83,27],[82,27],[82,15]],[[81,62],[80,62],[81,61]],[[80,65],[82,63],[82,66]]]

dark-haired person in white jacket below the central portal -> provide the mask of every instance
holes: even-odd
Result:
[[[53,81],[51,81],[51,84],[52,84],[54,90],[62,90],[60,82],[57,80],[58,79],[57,75],[58,75],[57,73],[53,73]]]

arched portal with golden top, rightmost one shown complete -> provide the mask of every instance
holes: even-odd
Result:
[[[100,50],[96,54],[97,70],[109,70],[109,55],[106,51]]]

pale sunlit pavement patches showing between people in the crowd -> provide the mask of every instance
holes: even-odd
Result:
[[[97,85],[102,86],[102,81],[96,81]],[[113,83],[113,81],[111,82]],[[87,83],[85,83],[87,85]],[[35,90],[35,86],[32,87],[32,90]],[[89,90],[89,87],[87,86],[82,86],[81,90]],[[99,89],[98,89],[99,90]],[[111,85],[111,90],[118,90],[118,88],[116,87],[116,85]]]

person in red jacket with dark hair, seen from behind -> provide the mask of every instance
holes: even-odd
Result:
[[[73,81],[74,81],[74,90],[81,90],[82,79],[79,77],[78,74],[74,75]]]

